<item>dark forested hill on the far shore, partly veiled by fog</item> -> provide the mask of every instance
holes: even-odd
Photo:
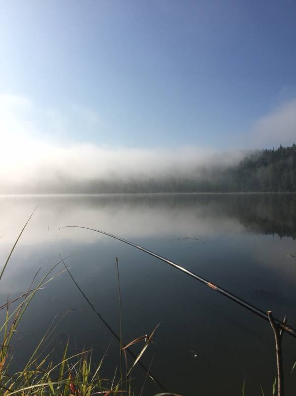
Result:
[[[296,145],[257,150],[227,168],[209,164],[182,176],[97,180],[83,190],[89,193],[296,192]]]

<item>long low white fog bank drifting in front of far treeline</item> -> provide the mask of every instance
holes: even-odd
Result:
[[[124,192],[120,185],[196,179],[205,169],[238,163],[243,155],[188,147],[164,150],[112,149],[88,143],[67,146],[19,134],[7,137],[0,148],[0,192]],[[118,191],[114,191],[115,184]]]

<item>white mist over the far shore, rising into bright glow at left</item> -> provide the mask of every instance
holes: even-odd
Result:
[[[197,180],[205,168],[225,168],[245,155],[186,144],[145,148],[57,140],[51,138],[55,129],[63,136],[70,126],[47,113],[27,98],[0,94],[0,194],[133,192],[135,186],[158,191],[170,179]],[[40,133],[44,125],[48,135]],[[82,125],[87,129],[85,119]]]

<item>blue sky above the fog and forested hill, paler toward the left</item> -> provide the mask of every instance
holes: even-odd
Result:
[[[2,137],[22,120],[63,144],[292,144],[296,2],[1,0],[0,95]]]

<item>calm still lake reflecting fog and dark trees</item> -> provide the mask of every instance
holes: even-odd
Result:
[[[1,304],[25,292],[66,257],[71,274],[104,320],[119,333],[115,259],[119,261],[123,339],[150,333],[142,357],[170,390],[180,395],[271,394],[276,375],[268,322],[133,247],[78,225],[118,235],[163,255],[296,327],[296,195],[152,194],[0,197],[0,259],[4,263],[21,228],[38,205],[1,280]],[[15,336],[14,366],[23,364],[52,320],[50,347],[71,352],[93,348],[98,361],[106,347],[103,375],[119,361],[119,344],[93,312],[63,264],[34,297]],[[58,275],[58,273],[60,273]],[[3,311],[2,311],[3,314]],[[2,318],[2,316],[1,316]],[[51,338],[50,338],[51,339]],[[143,344],[132,347],[138,353]],[[286,391],[292,394],[296,340],[283,339]],[[58,354],[58,351],[56,352]],[[131,364],[132,360],[129,359]],[[145,379],[133,372],[139,393]],[[144,395],[161,392],[147,379]]]

